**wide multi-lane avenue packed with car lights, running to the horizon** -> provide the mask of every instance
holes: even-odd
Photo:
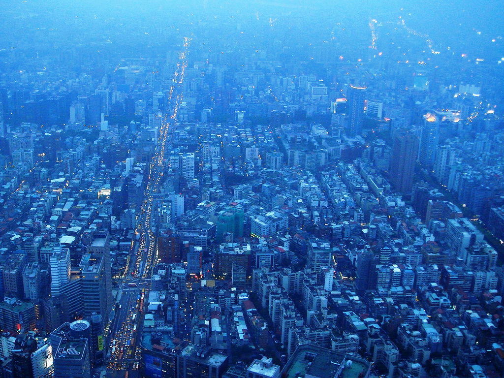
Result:
[[[141,328],[144,315],[144,301],[147,302],[152,270],[157,261],[156,236],[153,228],[157,216],[156,199],[160,194],[163,165],[166,151],[173,142],[175,120],[178,106],[183,98],[180,91],[187,67],[187,53],[191,38],[185,37],[182,51],[173,74],[173,84],[168,93],[168,111],[164,115],[159,131],[156,152],[150,164],[145,190],[145,199],[139,213],[136,232],[140,234],[135,254],[130,260],[126,277],[120,282],[116,305],[112,310],[112,320],[108,327],[109,349],[107,357],[107,376],[129,378],[139,376]]]

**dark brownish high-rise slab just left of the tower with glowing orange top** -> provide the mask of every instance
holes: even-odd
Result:
[[[418,138],[409,132],[398,132],[394,136],[391,182],[398,192],[411,193],[415,173]]]

